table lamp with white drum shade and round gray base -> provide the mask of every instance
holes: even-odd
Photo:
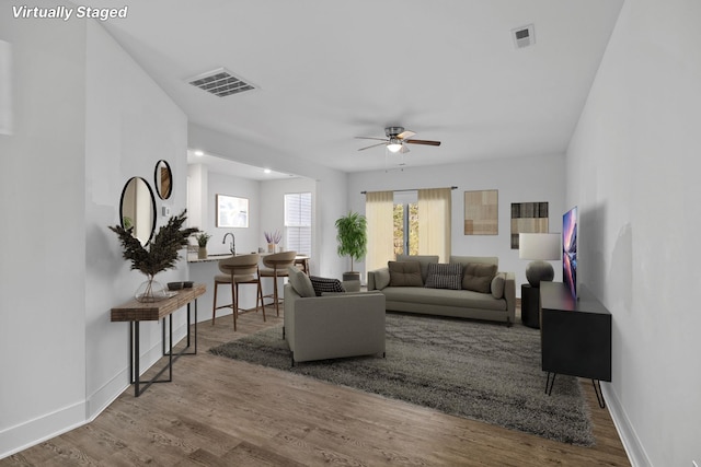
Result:
[[[521,233],[518,234],[518,257],[533,259],[526,268],[526,279],[531,287],[540,287],[541,281],[551,281],[555,271],[547,260],[560,259],[562,248],[559,233]]]

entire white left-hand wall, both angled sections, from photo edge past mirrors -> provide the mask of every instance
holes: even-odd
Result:
[[[159,209],[184,208],[187,122],[96,22],[3,14],[0,39],[15,83],[14,132],[0,135],[3,457],[84,423],[129,385],[128,325],[111,323],[110,310],[143,277],[107,225],[127,179],[152,183],[160,159],[174,192]],[[160,357],[158,326],[142,326],[142,370]]]

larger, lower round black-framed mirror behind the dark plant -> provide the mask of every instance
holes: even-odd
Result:
[[[131,177],[122,190],[119,215],[124,229],[146,245],[156,230],[156,198],[150,185],[141,177]]]

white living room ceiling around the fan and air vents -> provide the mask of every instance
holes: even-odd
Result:
[[[92,0],[93,7],[114,2]],[[564,153],[622,0],[149,0],[110,33],[189,121],[346,172],[403,126],[411,166]],[[512,30],[535,25],[517,49]],[[216,97],[223,67],[258,89]],[[275,167],[272,167],[275,168]]]

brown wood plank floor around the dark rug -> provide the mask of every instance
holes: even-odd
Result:
[[[207,353],[280,320],[246,314],[235,334],[231,316],[200,323],[172,383],[138,398],[129,387],[94,422],[0,466],[630,466],[588,381],[596,445],[578,447]]]

